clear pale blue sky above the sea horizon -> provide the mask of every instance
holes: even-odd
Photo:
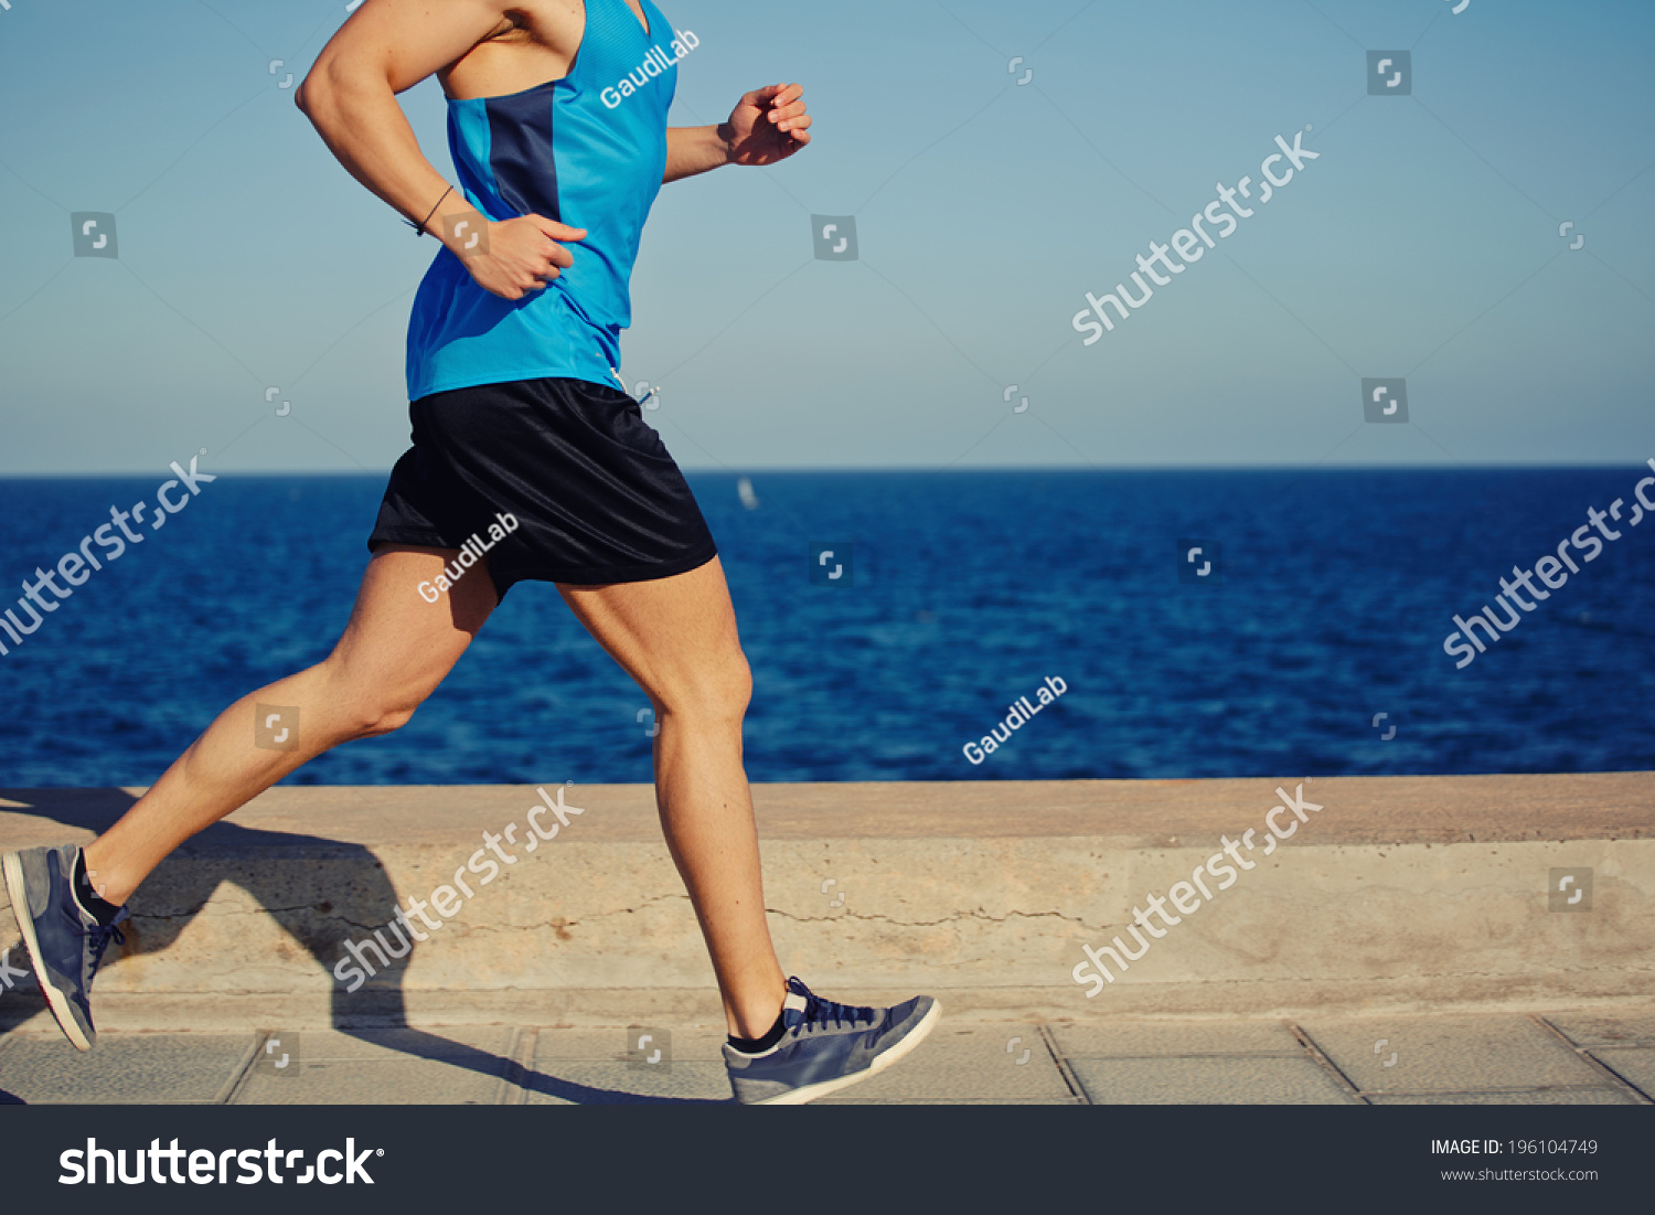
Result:
[[[816,142],[662,190],[627,379],[685,467],[1640,463],[1655,5],[1456,2],[665,5],[700,38],[674,122],[798,79]],[[344,0],[10,5],[0,473],[389,468],[435,243],[281,88]],[[1410,50],[1410,96],[1367,50]],[[450,172],[437,86],[404,103]],[[1306,126],[1319,161],[1082,346],[1086,291]],[[81,210],[118,260],[71,257]],[[816,260],[813,214],[861,258]],[[1364,376],[1410,425],[1362,422]]]

